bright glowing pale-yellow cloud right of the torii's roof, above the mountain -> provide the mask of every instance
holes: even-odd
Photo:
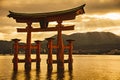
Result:
[[[116,13],[117,14],[117,13]],[[84,24],[86,27],[109,27],[120,25],[120,14],[85,14],[76,18],[76,23]],[[117,18],[115,18],[117,16]]]

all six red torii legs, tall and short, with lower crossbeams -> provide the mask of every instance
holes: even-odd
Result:
[[[18,62],[25,62],[25,70],[29,71],[31,70],[31,62],[36,62],[36,68],[39,69],[40,67],[40,41],[35,41],[36,45],[33,46],[31,45],[31,32],[32,32],[32,23],[27,23],[26,31],[27,31],[27,44],[26,45],[19,45],[18,42],[20,41],[19,39],[13,39],[15,42],[14,44],[14,70],[18,70]],[[73,27],[73,26],[72,26]],[[48,70],[52,70],[52,64],[57,63],[57,70],[58,71],[64,71],[64,63],[69,63],[68,67],[69,70],[72,70],[72,49],[73,49],[73,40],[67,40],[69,42],[68,46],[63,45],[63,40],[62,40],[62,29],[64,29],[64,26],[62,25],[62,21],[58,21],[58,25],[56,25],[57,31],[58,31],[58,36],[57,36],[57,45],[53,45],[53,39],[48,38]],[[69,28],[68,28],[69,29]],[[70,28],[71,29],[71,28]],[[20,30],[20,29],[19,29]],[[25,49],[25,60],[20,60],[18,59],[18,52],[19,48]],[[53,48],[57,49],[57,60],[52,60],[52,50]],[[69,57],[68,60],[64,60],[64,49],[67,48],[69,49]],[[36,49],[36,59],[31,59],[31,49]]]

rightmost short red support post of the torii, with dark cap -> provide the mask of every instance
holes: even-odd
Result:
[[[72,66],[72,63],[73,63],[73,59],[72,59],[72,52],[73,52],[73,41],[74,40],[67,40],[68,43],[69,43],[69,57],[68,57],[68,68],[69,70],[72,70],[73,69],[73,66]]]

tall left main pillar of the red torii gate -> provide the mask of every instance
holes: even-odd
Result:
[[[32,22],[27,22],[27,44],[26,44],[26,53],[25,53],[25,70],[31,70],[31,29]]]

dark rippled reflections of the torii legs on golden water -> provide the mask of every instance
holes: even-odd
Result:
[[[32,73],[36,72],[35,75]],[[73,80],[72,71],[52,72],[47,71],[46,78],[42,77],[40,71],[23,71],[12,73],[11,80]],[[23,76],[24,75],[24,76]]]

